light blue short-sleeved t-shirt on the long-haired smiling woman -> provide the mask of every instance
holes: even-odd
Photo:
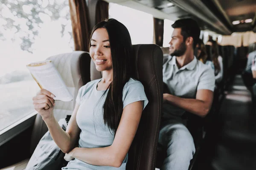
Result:
[[[103,119],[103,105],[105,103],[108,90],[98,91],[97,84],[101,79],[93,80],[82,86],[76,98],[79,109],[76,115],[76,122],[81,129],[79,147],[108,147],[113,143],[114,133],[105,125]],[[144,87],[141,82],[130,79],[123,88],[122,94],[123,108],[137,102],[144,101],[143,109],[148,104]],[[95,166],[87,164],[79,159],[74,159],[63,167],[62,170],[125,170],[128,155],[126,155],[121,167]]]

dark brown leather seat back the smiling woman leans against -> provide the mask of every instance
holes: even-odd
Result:
[[[126,169],[154,170],[163,103],[163,52],[154,44],[133,45],[133,51],[134,78],[143,84],[149,102],[131,144]],[[91,80],[102,77],[93,61],[90,71]]]

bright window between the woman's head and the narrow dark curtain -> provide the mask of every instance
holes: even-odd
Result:
[[[116,3],[109,3],[109,18],[124,24],[130,35],[132,44],[153,43],[153,16]]]

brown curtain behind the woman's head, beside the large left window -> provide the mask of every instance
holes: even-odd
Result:
[[[69,0],[75,51],[89,51],[90,33],[96,23],[108,18],[108,3],[102,0]],[[83,84],[90,81],[90,57],[81,57]]]

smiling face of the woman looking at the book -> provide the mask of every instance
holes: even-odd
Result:
[[[98,71],[112,69],[112,58],[108,32],[105,28],[96,29],[90,40],[90,57]]]

